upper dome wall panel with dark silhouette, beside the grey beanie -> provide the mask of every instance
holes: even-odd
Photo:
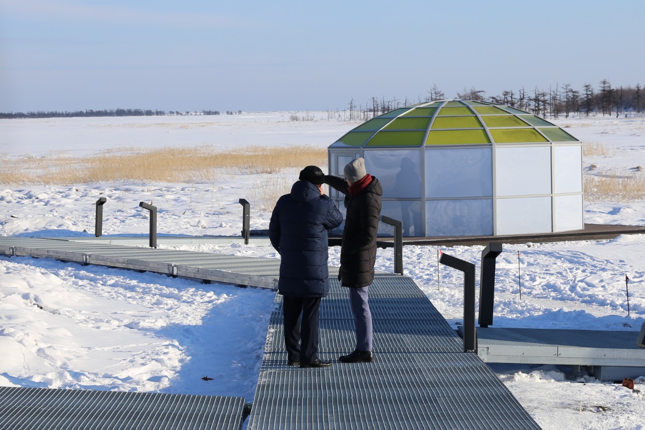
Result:
[[[363,157],[367,172],[379,178],[383,197],[421,199],[420,150],[366,150]]]

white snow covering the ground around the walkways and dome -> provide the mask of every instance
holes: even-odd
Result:
[[[294,114],[0,120],[0,157],[184,145],[326,147],[355,127],[328,120],[326,112],[297,113],[317,121],[290,121]],[[553,122],[582,141],[613,148],[611,156],[585,158],[586,166],[645,166],[642,116]],[[296,179],[297,172],[286,174]],[[138,207],[139,201],[154,201],[159,207],[159,236],[239,235],[238,200],[247,198],[259,179],[264,178],[239,174],[210,183],[0,185],[0,235],[92,236],[99,197],[108,198],[104,236],[146,236],[147,211]],[[645,225],[644,214],[644,201],[585,205],[587,223]],[[266,229],[269,217],[252,206],[251,228]],[[278,258],[271,247],[253,244],[181,249]],[[339,263],[339,251],[333,247],[330,264]],[[479,266],[482,247],[441,251]],[[405,246],[403,259],[406,274],[456,327],[462,316],[461,273],[437,267],[437,247]],[[377,269],[393,270],[392,249],[379,249]],[[495,327],[637,331],[645,322],[644,235],[504,244],[496,274]],[[46,258],[0,256],[0,385],[244,396],[252,402],[273,294]],[[493,369],[544,429],[645,429],[645,378],[632,391],[573,375],[566,367]]]

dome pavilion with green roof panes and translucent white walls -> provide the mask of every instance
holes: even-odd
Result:
[[[582,142],[517,108],[442,100],[387,112],[328,148],[330,174],[365,159],[382,214],[408,237],[579,230]],[[343,209],[343,195],[330,190]]]

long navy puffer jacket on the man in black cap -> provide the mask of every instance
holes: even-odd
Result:
[[[269,239],[281,257],[279,294],[327,295],[327,230],[341,223],[341,211],[309,181],[297,181],[290,194],[279,198],[269,223]]]

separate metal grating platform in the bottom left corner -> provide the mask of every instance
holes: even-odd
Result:
[[[244,398],[0,387],[0,428],[238,430]]]

